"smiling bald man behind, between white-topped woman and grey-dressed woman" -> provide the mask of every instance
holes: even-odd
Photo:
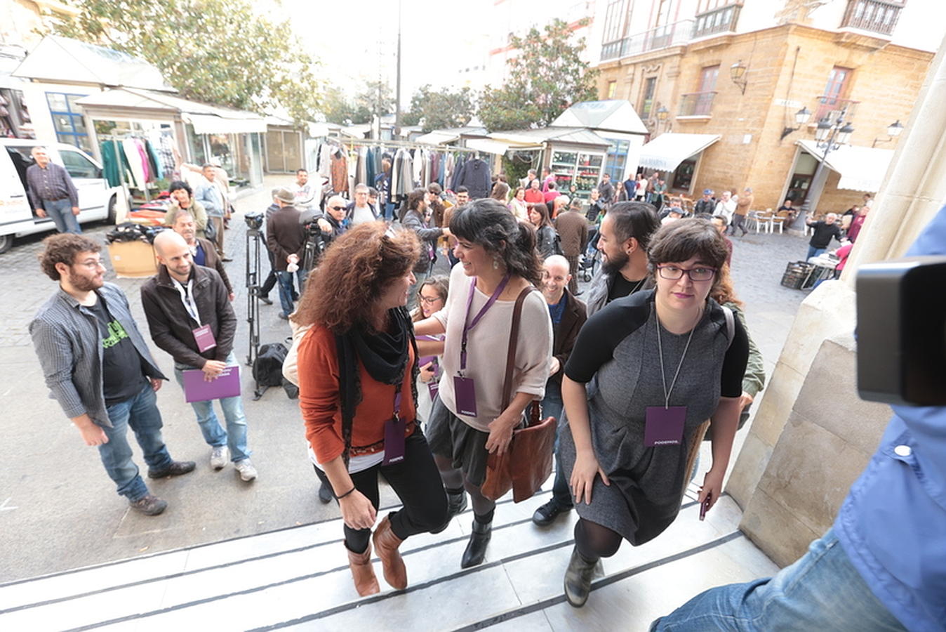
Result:
[[[545,260],[542,267],[542,295],[545,296],[552,318],[552,365],[549,369],[549,380],[545,384],[545,397],[542,399],[542,416],[552,416],[555,419],[562,417],[562,369],[575,346],[578,330],[587,320],[585,304],[568,290],[570,280],[568,259],[562,255],[552,255]],[[572,507],[569,482],[558,459],[557,440],[555,452],[552,499],[533,514],[533,522],[540,527],[552,524],[559,514],[569,511]]]

